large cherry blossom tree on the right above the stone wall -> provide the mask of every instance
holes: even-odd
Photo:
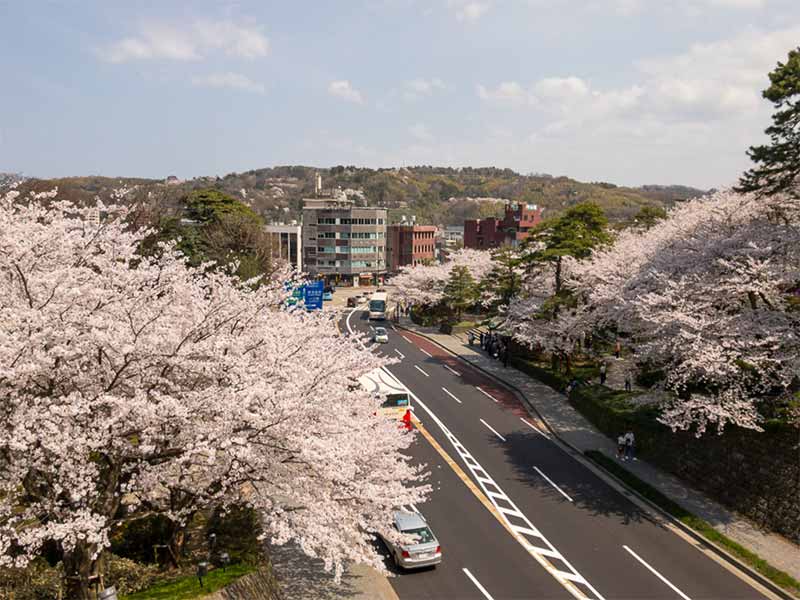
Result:
[[[760,429],[759,404],[786,391],[800,367],[800,207],[731,191],[690,201],[650,230],[576,263],[595,326],[631,333],[676,396],[673,429]]]

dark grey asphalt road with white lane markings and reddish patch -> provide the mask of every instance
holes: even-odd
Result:
[[[369,335],[378,325],[360,310],[348,316],[345,331]],[[387,369],[416,397],[415,415],[494,505],[418,435],[412,456],[435,488],[418,508],[443,563],[392,578],[400,598],[764,598],[550,440],[510,391],[428,340],[381,325],[389,343],[376,351],[398,359]]]

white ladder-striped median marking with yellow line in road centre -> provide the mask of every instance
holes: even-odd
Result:
[[[384,368],[385,369],[385,368]],[[388,369],[385,369],[388,371]],[[505,492],[500,488],[497,483],[491,478],[489,473],[480,466],[477,460],[469,453],[464,445],[453,435],[447,426],[437,417],[433,411],[428,408],[419,397],[409,390],[409,395],[414,399],[417,406],[421,407],[428,416],[436,423],[439,429],[442,430],[445,437],[447,437],[450,444],[458,452],[464,464],[467,465],[472,476],[480,485],[483,494],[480,493],[478,487],[467,476],[467,474],[450,458],[450,455],[442,448],[436,439],[426,429],[419,427],[419,431],[426,440],[434,447],[434,449],[442,456],[448,466],[458,475],[459,479],[464,482],[464,485],[475,495],[475,497],[483,504],[484,507],[503,525],[503,527],[511,534],[511,536],[525,548],[528,554],[538,562],[542,568],[545,569],[556,581],[558,581],[564,589],[566,589],[577,600],[605,600],[603,596],[564,558],[564,556],[556,549],[550,541],[542,535],[542,533],[531,523],[528,517],[517,508],[514,501],[511,500]],[[474,463],[474,464],[471,464]],[[491,485],[497,490],[493,496],[489,496],[487,486]],[[494,496],[502,494],[504,499],[502,502],[511,506],[512,508],[505,508],[501,510],[500,505]],[[507,515],[511,515],[517,521],[521,521],[524,525],[512,523]],[[534,540],[535,543],[532,541]],[[563,566],[558,568],[550,562],[550,558],[557,559]]]

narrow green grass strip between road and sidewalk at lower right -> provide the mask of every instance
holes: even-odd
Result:
[[[732,554],[743,563],[749,565],[753,570],[759,572],[761,575],[785,589],[787,592],[800,597],[800,582],[798,582],[788,573],[784,573],[780,569],[773,567],[754,552],[751,552],[741,544],[738,544],[726,535],[720,533],[714,529],[710,523],[693,515],[676,502],[673,502],[657,489],[639,479],[636,475],[602,452],[597,450],[587,450],[585,454],[594,463],[598,464],[600,467],[616,476],[617,479],[621,480],[623,483],[625,483],[625,485],[636,490],[639,494],[650,500],[662,510],[668,512],[684,525],[691,527],[703,535],[703,537],[707,538],[718,546],[721,546],[729,554]]]

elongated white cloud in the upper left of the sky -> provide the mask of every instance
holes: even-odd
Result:
[[[195,21],[189,25],[149,23],[138,35],[125,37],[98,50],[103,60],[198,60],[213,53],[253,59],[269,53],[269,39],[261,28],[229,20]]]

